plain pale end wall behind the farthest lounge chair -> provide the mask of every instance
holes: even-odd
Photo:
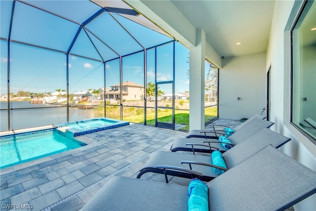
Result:
[[[265,62],[265,53],[223,59],[219,71],[219,118],[239,120],[261,114],[266,107]]]

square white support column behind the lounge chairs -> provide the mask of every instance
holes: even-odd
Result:
[[[197,29],[197,45],[190,49],[190,130],[204,129],[205,32]]]

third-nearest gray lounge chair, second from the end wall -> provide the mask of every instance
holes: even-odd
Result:
[[[238,129],[235,133],[228,137],[231,145],[236,145],[242,142],[244,139],[248,138],[255,132],[266,127],[271,127],[274,123],[261,120],[259,118],[254,118],[245,126]],[[208,143],[208,145],[207,145]],[[176,151],[188,151],[188,152],[204,152],[211,153],[212,149],[217,149],[221,152],[227,151],[219,140],[216,139],[202,139],[202,138],[178,138],[173,141],[170,150],[172,152]]]

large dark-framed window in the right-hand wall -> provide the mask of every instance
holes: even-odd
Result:
[[[316,3],[306,1],[292,37],[291,122],[316,139]]]

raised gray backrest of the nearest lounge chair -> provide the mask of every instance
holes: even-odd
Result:
[[[269,145],[207,185],[209,210],[285,210],[316,192],[316,172]]]

